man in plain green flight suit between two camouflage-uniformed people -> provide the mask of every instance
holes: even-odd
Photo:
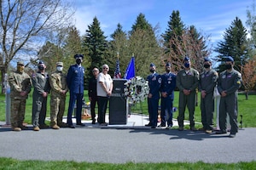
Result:
[[[50,91],[49,75],[45,72],[46,66],[43,61],[38,62],[38,72],[32,75],[34,87],[33,104],[32,104],[32,125],[34,131],[40,128],[48,128],[44,123],[46,116],[47,97]]]

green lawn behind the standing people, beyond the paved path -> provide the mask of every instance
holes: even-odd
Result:
[[[68,101],[69,101],[69,94],[67,94],[67,100],[66,100],[66,112],[64,116],[67,116],[67,107],[68,107]],[[178,106],[178,92],[175,92],[175,99],[173,101],[173,106]],[[84,91],[84,99],[85,101],[89,101],[87,91]],[[48,98],[48,109],[47,109],[47,116],[49,116],[49,101],[50,98]],[[240,122],[242,115],[242,122],[243,127],[256,127],[256,95],[249,95],[249,99],[245,98],[244,94],[238,95],[238,122]],[[145,115],[148,115],[148,105],[147,101],[145,100],[142,103],[139,103],[137,105],[134,105],[131,107],[132,113],[143,113]],[[177,118],[177,111],[174,112],[173,118]],[[215,115],[214,115],[215,116]],[[186,111],[185,119],[189,119],[189,113]],[[5,95],[0,95],[0,121],[5,122]],[[215,121],[215,117],[214,117]],[[29,94],[28,99],[26,100],[26,116],[25,116],[25,122],[31,124],[32,122],[32,93]],[[200,110],[200,94],[198,94],[198,105],[195,106],[195,122],[201,122],[201,110]],[[200,125],[197,125],[200,126]]]

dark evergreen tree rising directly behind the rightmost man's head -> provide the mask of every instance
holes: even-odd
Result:
[[[224,41],[218,42],[215,51],[218,52],[218,61],[224,61],[226,56],[235,60],[235,69],[241,71],[241,65],[247,60],[247,30],[236,17],[231,26],[224,31]],[[219,71],[224,71],[224,65],[219,65]]]

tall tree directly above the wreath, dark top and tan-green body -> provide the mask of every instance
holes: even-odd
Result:
[[[158,72],[162,72],[160,46],[155,37],[154,29],[144,14],[138,14],[129,33],[128,49],[130,56],[135,55],[136,75],[146,77],[150,63],[154,63],[158,67]]]

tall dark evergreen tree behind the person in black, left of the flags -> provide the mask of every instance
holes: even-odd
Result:
[[[88,48],[90,57],[89,77],[92,77],[91,70],[93,67],[102,68],[102,65],[106,64],[106,51],[108,49],[106,38],[100,27],[100,22],[95,17],[92,24],[88,26],[83,40],[83,47]],[[88,77],[86,77],[87,79]]]

